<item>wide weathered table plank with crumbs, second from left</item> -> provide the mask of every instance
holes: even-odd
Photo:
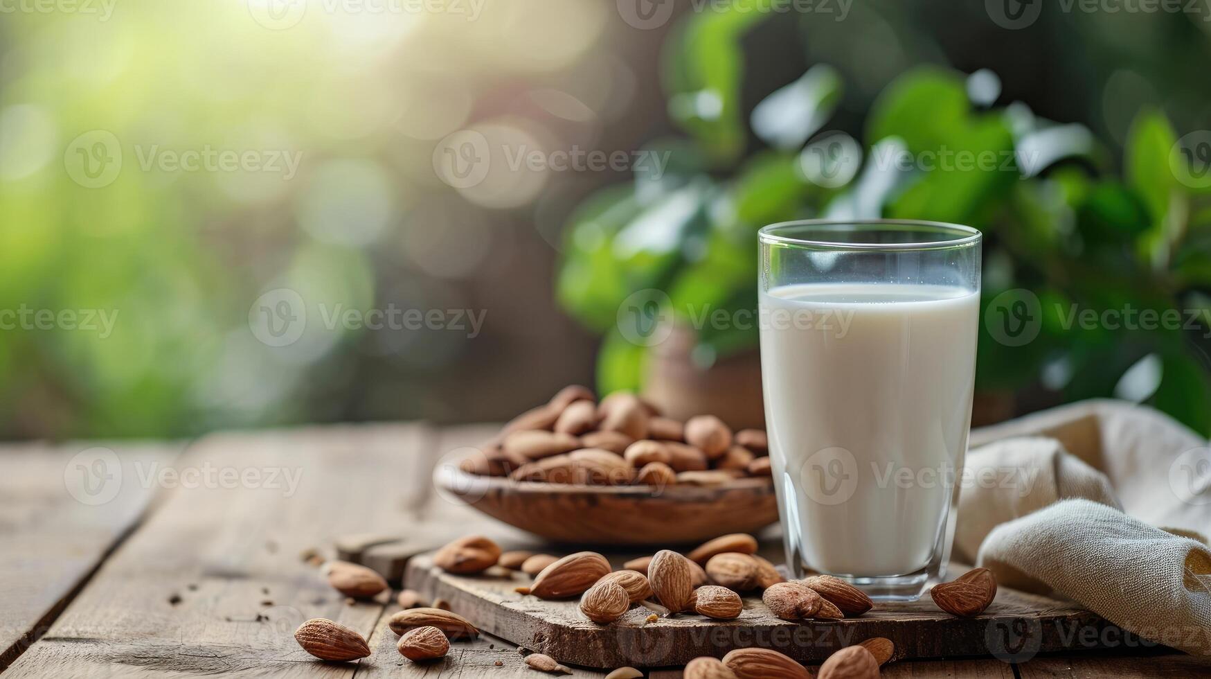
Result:
[[[420,426],[203,439],[173,466],[197,483],[166,492],[6,679],[351,677],[356,663],[312,661],[293,630],[328,617],[369,634],[383,605],[346,604],[299,554],[414,523],[432,445]]]

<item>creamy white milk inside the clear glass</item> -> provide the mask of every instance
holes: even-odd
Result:
[[[966,450],[978,297],[894,284],[761,295],[765,424],[792,560],[856,577],[926,567]]]

